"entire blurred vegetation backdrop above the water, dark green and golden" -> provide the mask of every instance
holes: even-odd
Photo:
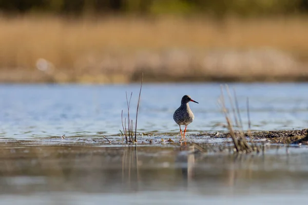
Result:
[[[0,82],[307,81],[308,0],[0,0]]]

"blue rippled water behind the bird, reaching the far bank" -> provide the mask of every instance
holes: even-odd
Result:
[[[302,129],[308,125],[308,84],[229,84],[235,88],[242,119],[246,98],[250,101],[252,129]],[[121,110],[126,112],[125,91],[133,92],[135,110],[139,85],[1,85],[0,137],[29,139],[69,135],[118,135]],[[219,84],[146,84],[142,90],[138,128],[140,132],[178,132],[172,119],[181,97],[189,94],[195,121],[188,132],[224,130],[217,100]],[[246,127],[247,128],[247,127]]]

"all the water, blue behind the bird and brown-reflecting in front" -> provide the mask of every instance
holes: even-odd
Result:
[[[249,97],[254,130],[306,128],[307,86],[230,84],[244,122]],[[1,85],[1,204],[304,204],[307,146],[237,156],[221,152],[225,139],[194,137],[205,143],[201,149],[168,142],[129,147],[118,137],[125,91],[133,92],[134,113],[139,85]],[[199,102],[190,103],[189,133],[224,130],[215,127],[225,122],[219,84],[147,84],[139,131],[157,133],[158,141],[178,135],[172,114],[184,94]],[[101,134],[120,142],[107,145]]]

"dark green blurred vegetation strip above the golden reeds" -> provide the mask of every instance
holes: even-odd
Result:
[[[81,15],[86,13],[106,15],[133,13],[157,14],[207,14],[223,17],[306,13],[307,0],[1,0],[3,13],[48,12]]]

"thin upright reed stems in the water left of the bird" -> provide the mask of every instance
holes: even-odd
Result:
[[[136,122],[135,122],[134,132],[133,132],[133,120],[130,118],[130,114],[129,114],[129,107],[130,107],[130,100],[131,100],[132,92],[130,93],[129,100],[128,100],[128,97],[127,97],[127,92],[125,93],[126,94],[126,103],[127,103],[127,118],[126,117],[124,118],[124,124],[123,124],[123,110],[122,110],[121,119],[122,119],[123,132],[121,130],[120,131],[121,131],[122,135],[125,137],[126,142],[137,142],[138,110],[139,110],[142,83],[143,83],[143,73],[142,73],[141,84],[140,84],[140,91],[139,91],[139,98],[138,98],[138,104],[137,104]]]

